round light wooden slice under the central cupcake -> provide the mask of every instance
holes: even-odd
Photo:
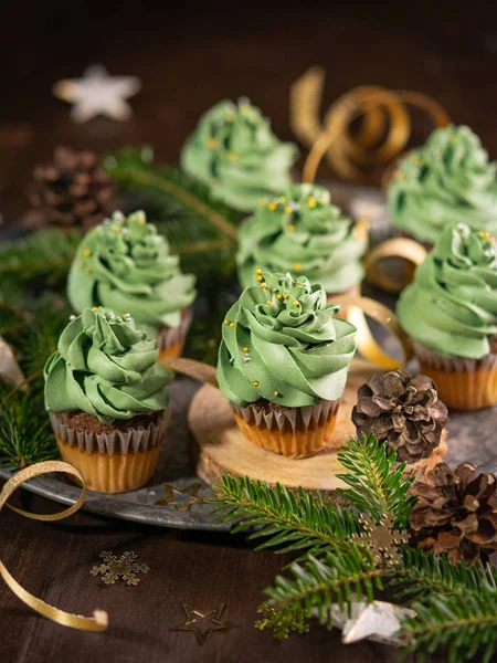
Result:
[[[336,449],[356,434],[350,417],[357,402],[357,390],[374,372],[378,367],[360,359],[352,361],[334,433]],[[345,487],[336,476],[345,472],[336,451],[325,450],[308,459],[292,460],[256,446],[244,438],[228,400],[211,385],[204,385],[194,396],[188,420],[200,446],[197,474],[211,485],[220,485],[222,474],[232,474],[272,485],[279,482],[287,488],[303,486],[334,493],[338,487]]]

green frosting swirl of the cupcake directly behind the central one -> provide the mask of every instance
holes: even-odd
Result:
[[[254,270],[306,274],[334,295],[358,294],[364,275],[361,257],[367,236],[362,229],[331,204],[329,191],[314,185],[294,185],[287,196],[263,200],[243,222],[236,256],[243,287]]]

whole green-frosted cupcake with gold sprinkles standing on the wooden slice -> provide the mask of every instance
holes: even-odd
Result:
[[[253,443],[299,459],[332,446],[356,327],[320,285],[263,272],[228,312],[218,382]]]

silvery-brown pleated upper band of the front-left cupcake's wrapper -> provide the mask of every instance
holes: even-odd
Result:
[[[77,446],[81,453],[131,454],[148,451],[160,444],[166,435],[169,421],[169,409],[165,410],[157,421],[151,421],[147,428],[138,427],[127,431],[114,430],[97,433],[91,430],[77,429],[68,425],[56,412],[50,412],[55,436],[63,444],[71,448]]]

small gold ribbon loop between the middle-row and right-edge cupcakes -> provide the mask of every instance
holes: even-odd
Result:
[[[426,249],[415,240],[408,238],[387,240],[366,255],[366,278],[389,293],[400,293],[412,281],[414,267],[421,265],[426,255]],[[412,269],[406,270],[403,278],[390,276],[384,270],[379,269],[379,263],[385,257],[402,257],[412,265]]]

